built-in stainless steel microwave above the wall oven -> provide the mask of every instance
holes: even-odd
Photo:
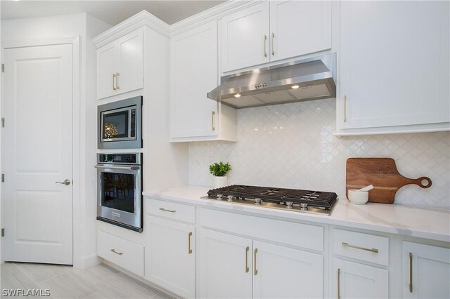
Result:
[[[99,149],[142,147],[141,96],[100,105],[97,111]]]

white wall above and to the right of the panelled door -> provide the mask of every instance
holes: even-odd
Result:
[[[80,84],[74,110],[78,111],[78,126],[74,128],[79,168],[74,168],[74,266],[97,263],[95,248],[96,218],[96,51],[91,38],[110,25],[86,13],[57,15],[45,18],[24,18],[1,21],[1,41],[45,39],[79,36]],[[77,182],[78,180],[78,182]],[[78,186],[79,189],[75,188]]]

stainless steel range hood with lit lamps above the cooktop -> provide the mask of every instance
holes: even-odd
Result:
[[[207,97],[236,109],[335,98],[335,65],[331,53],[231,74]]]

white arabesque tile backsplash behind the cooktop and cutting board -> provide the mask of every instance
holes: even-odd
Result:
[[[450,208],[450,133],[338,138],[335,100],[238,110],[238,142],[191,142],[189,184],[212,185],[209,159],[229,161],[229,185],[264,185],[336,192],[345,198],[349,157],[391,157],[399,173],[428,176],[432,187],[401,188],[396,204]]]

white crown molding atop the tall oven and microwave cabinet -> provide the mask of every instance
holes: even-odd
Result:
[[[124,36],[125,34],[128,34],[129,32],[143,26],[150,27],[156,32],[170,37],[169,25],[167,25],[167,23],[156,18],[155,15],[152,15],[148,11],[141,11],[140,13],[133,15],[131,18],[124,20],[120,24],[117,24],[102,34],[94,37],[92,42],[96,48],[101,48],[101,46],[105,46],[105,44],[109,44],[111,41],[115,41],[121,36]]]

